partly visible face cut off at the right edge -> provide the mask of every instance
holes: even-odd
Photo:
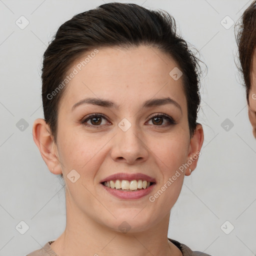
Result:
[[[251,88],[248,101],[249,120],[252,125],[253,136],[256,138],[256,53],[252,59]]]

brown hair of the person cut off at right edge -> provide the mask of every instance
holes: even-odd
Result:
[[[237,67],[243,76],[246,98],[247,102],[249,102],[252,59],[256,45],[256,0],[243,12],[235,25],[235,30],[240,61],[240,65],[237,65]]]

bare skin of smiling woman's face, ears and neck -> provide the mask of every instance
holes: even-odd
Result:
[[[52,173],[63,173],[66,183],[66,228],[50,245],[58,256],[84,256],[84,251],[100,256],[182,255],[167,240],[167,232],[170,209],[184,175],[190,174],[189,168],[154,202],[148,199],[182,163],[200,151],[203,142],[200,124],[190,137],[182,79],[169,75],[175,66],[166,54],[147,46],[100,48],[65,88],[59,102],[56,143],[44,119],[34,121],[33,138],[43,160]],[[174,104],[141,108],[145,100],[166,96],[180,109]],[[111,100],[119,109],[81,104],[72,110],[85,97]],[[87,120],[90,127],[82,124],[91,113],[105,115],[101,122],[96,120],[99,128],[95,122],[91,127],[91,119]],[[171,116],[176,124],[166,125],[169,122],[165,118],[158,124],[151,118],[155,113]],[[126,131],[118,127],[123,118],[131,123]],[[191,170],[197,159],[190,164]],[[80,174],[75,183],[67,178],[72,169]],[[99,183],[117,172],[142,172],[155,178],[156,184],[142,198],[119,199]],[[123,221],[130,226],[126,233],[118,228]]]

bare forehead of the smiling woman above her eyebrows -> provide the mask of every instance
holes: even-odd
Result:
[[[171,70],[178,68],[177,64],[158,49],[141,45],[129,49],[98,48],[97,51],[91,55],[86,52],[69,68],[67,74],[74,69],[77,73],[68,83],[65,101],[98,96],[117,98],[119,102],[121,99],[120,104],[126,105],[131,104],[130,99],[144,101],[143,98],[166,94],[184,101],[182,75],[176,80],[173,72],[170,75]]]

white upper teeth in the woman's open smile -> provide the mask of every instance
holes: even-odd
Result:
[[[130,189],[130,190],[136,190],[138,188],[147,188],[150,185],[149,181],[146,180],[109,180],[109,181],[105,181],[104,185],[107,187],[111,187],[111,188],[116,188],[116,189]]]

